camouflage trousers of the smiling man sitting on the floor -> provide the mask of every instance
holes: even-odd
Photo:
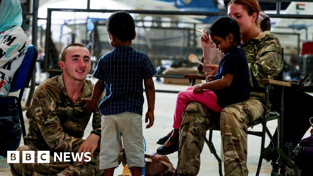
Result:
[[[53,156],[50,156],[50,163],[37,163],[38,149],[27,145],[19,147],[17,151],[20,151],[20,162],[9,163],[14,176],[99,176],[104,174],[102,169],[99,170],[99,153],[94,153],[90,162],[81,165],[79,161],[54,162]],[[22,151],[35,151],[35,163],[22,163]]]

